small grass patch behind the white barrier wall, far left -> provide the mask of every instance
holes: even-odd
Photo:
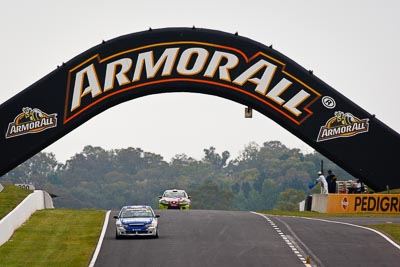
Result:
[[[0,192],[0,220],[12,211],[32,191],[22,189],[15,185],[3,185],[4,190]]]

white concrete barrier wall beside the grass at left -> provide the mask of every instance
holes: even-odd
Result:
[[[35,190],[14,210],[0,220],[0,246],[3,245],[35,211],[54,208],[50,195],[42,190]]]

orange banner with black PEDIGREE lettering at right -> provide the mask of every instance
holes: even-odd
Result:
[[[329,194],[327,213],[397,213],[398,194]]]

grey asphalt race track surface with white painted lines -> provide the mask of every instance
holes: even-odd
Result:
[[[158,239],[116,240],[113,216],[117,212],[111,212],[94,266],[392,267],[400,264],[398,247],[375,232],[347,224],[368,225],[388,219],[338,218],[346,223],[339,224],[245,211],[156,210],[156,213],[161,215]]]

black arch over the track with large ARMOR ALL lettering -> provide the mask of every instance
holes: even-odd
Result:
[[[400,188],[397,132],[272,47],[195,28],[103,42],[1,104],[0,175],[114,105],[167,92],[253,108],[371,188]]]

